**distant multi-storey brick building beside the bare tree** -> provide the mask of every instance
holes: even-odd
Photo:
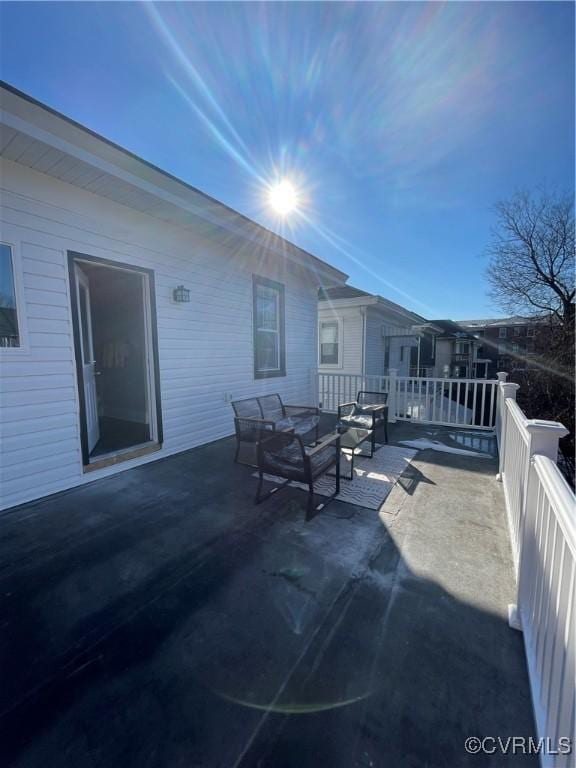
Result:
[[[535,339],[544,327],[542,320],[501,317],[489,320],[459,320],[458,325],[473,334],[488,360],[488,377],[498,371],[525,370],[533,365]]]

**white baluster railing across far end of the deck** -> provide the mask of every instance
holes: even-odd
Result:
[[[347,373],[318,373],[318,403],[335,412],[352,402],[360,390],[388,394],[388,418],[491,430],[496,420],[498,381],[487,379],[441,379],[397,376],[363,376]]]

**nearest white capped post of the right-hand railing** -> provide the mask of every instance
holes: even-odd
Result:
[[[518,531],[517,558],[517,587],[516,605],[508,606],[508,623],[513,629],[522,629],[523,598],[525,596],[525,581],[531,569],[530,548],[526,547],[526,530],[534,520],[534,456],[541,455],[551,459],[555,464],[558,460],[558,441],[568,434],[568,430],[558,421],[528,419],[525,424],[530,438],[526,456],[524,487],[521,489],[520,530]],[[532,480],[532,483],[531,483]],[[530,487],[532,485],[532,488]],[[532,564],[533,565],[533,564]],[[527,573],[528,569],[528,573]]]

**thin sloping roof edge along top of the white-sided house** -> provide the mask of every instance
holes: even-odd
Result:
[[[341,270],[337,269],[336,267],[333,267],[331,264],[328,264],[328,262],[324,261],[323,259],[318,258],[318,256],[314,256],[314,254],[310,253],[309,251],[306,251],[304,248],[300,248],[300,246],[295,245],[294,243],[290,242],[290,240],[287,240],[285,237],[282,237],[282,235],[277,234],[276,232],[273,232],[272,230],[268,229],[267,227],[263,226],[262,224],[259,224],[258,222],[254,221],[253,219],[249,218],[243,213],[240,213],[239,211],[236,211],[234,208],[231,208],[229,205],[226,205],[225,203],[222,203],[220,200],[217,200],[214,197],[211,197],[206,192],[203,192],[202,190],[198,189],[197,187],[194,187],[192,184],[189,184],[186,181],[183,181],[182,179],[178,178],[174,174],[170,173],[169,171],[165,171],[164,169],[160,168],[159,166],[155,165],[154,163],[151,163],[148,160],[145,160],[144,158],[140,157],[139,155],[136,155],[134,152],[131,152],[130,150],[126,149],[125,147],[122,147],[120,144],[116,144],[115,142],[111,141],[110,139],[107,139],[105,136],[102,136],[101,134],[97,133],[96,131],[93,131],[91,128],[88,128],[85,125],[82,125],[82,123],[77,122],[71,117],[68,117],[67,115],[63,114],[62,112],[59,112],[58,110],[54,109],[53,107],[50,107],[47,104],[44,104],[43,102],[39,101],[38,99],[35,99],[33,96],[30,96],[29,94],[25,93],[24,91],[19,90],[15,86],[11,85],[10,83],[7,83],[4,80],[0,79],[0,96],[1,91],[6,91],[13,96],[16,96],[19,99],[22,99],[27,104],[32,105],[33,107],[36,107],[49,115],[52,115],[53,117],[62,120],[64,123],[72,126],[76,130],[80,131],[81,133],[91,137],[92,139],[95,139],[98,142],[101,142],[102,144],[106,145],[107,147],[110,147],[116,152],[121,153],[125,157],[134,160],[136,163],[141,164],[145,168],[153,171],[154,173],[158,173],[164,178],[175,182],[177,185],[185,189],[187,192],[193,192],[195,195],[198,195],[199,197],[203,198],[205,201],[210,203],[211,205],[216,206],[216,208],[221,209],[222,211],[226,211],[229,214],[232,214],[234,217],[237,217],[240,219],[240,223],[244,224],[244,226],[251,227],[253,229],[256,229],[264,238],[265,242],[261,243],[269,250],[272,250],[276,252],[278,255],[285,256],[285,253],[282,253],[281,248],[278,248],[277,246],[273,245],[270,240],[273,239],[277,241],[278,245],[281,245],[283,248],[288,248],[289,250],[293,251],[294,253],[300,254],[302,257],[304,257],[305,260],[311,260],[314,264],[318,265],[318,269],[320,271],[327,271],[331,274],[333,279],[336,282],[345,283],[348,279],[348,275],[345,272],[342,272]],[[0,108],[2,111],[3,105],[0,103]],[[23,120],[23,118],[20,118]],[[25,122],[25,121],[24,121]],[[66,141],[66,139],[64,139]],[[114,162],[112,161],[112,164],[114,165]],[[117,168],[119,170],[123,170],[118,164],[116,164]],[[95,193],[97,194],[97,193]],[[184,201],[183,201],[184,202]],[[207,216],[202,216],[201,211],[196,211],[195,215],[205,218],[206,220],[212,221],[211,218]],[[230,230],[230,225],[224,221],[212,221],[212,223],[218,224],[224,229]]]

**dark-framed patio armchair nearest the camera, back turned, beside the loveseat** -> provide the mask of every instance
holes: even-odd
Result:
[[[314,482],[332,467],[335,471],[335,489],[327,501],[314,505]],[[300,435],[294,432],[274,432],[264,436],[258,443],[258,489],[255,504],[270,498],[293,480],[308,486],[306,517],[310,519],[314,509],[320,510],[340,493],[340,435],[331,434],[315,447],[304,445]],[[285,479],[262,495],[264,474]]]

